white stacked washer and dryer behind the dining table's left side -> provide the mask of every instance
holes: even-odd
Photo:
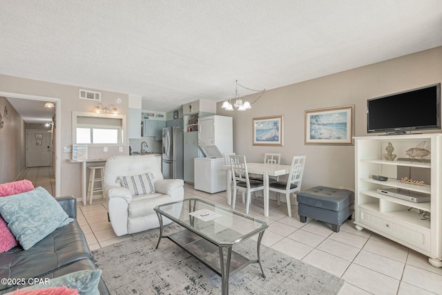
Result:
[[[227,189],[224,153],[233,152],[232,117],[212,115],[198,120],[198,145],[206,156],[195,158],[195,189],[218,193]]]

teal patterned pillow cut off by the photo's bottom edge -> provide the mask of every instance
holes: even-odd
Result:
[[[79,295],[99,295],[98,283],[100,276],[102,276],[101,269],[79,270],[78,272],[65,274],[64,276],[59,276],[58,278],[51,278],[48,283],[46,283],[44,278],[41,278],[40,280],[43,283],[40,285],[33,285],[21,290],[35,290],[48,287],[66,286],[71,289],[77,289]]]

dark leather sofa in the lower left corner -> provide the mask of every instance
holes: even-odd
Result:
[[[18,245],[0,253],[0,278],[24,278],[24,281],[28,281],[29,278],[57,278],[79,270],[95,269],[93,254],[76,220],[77,200],[66,197],[57,201],[68,216],[75,220],[55,229],[26,251]],[[0,294],[26,286],[0,283]],[[100,294],[109,294],[102,279],[98,288]]]

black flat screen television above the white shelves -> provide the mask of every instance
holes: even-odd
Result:
[[[441,129],[441,84],[367,100],[368,133]]]

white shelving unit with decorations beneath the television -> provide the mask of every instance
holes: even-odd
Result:
[[[425,142],[430,155],[410,158],[406,151],[421,142]],[[392,161],[383,160],[389,143],[394,146],[393,154],[396,155]],[[442,134],[356,137],[355,157],[356,229],[369,229],[410,247],[428,256],[434,267],[442,267]],[[401,182],[403,175],[398,175],[401,166],[410,173],[413,169],[427,172],[425,174],[430,171],[430,182],[424,185]],[[419,177],[419,171],[414,175]],[[372,175],[387,176],[388,180],[374,180]],[[425,193],[431,196],[431,201],[416,203],[377,192],[389,188]],[[430,220],[425,220],[421,211],[429,212]]]

